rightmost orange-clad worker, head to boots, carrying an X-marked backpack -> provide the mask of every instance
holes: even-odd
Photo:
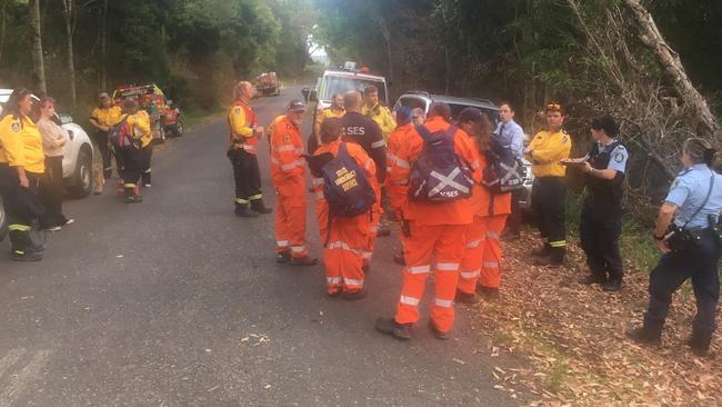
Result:
[[[485,151],[491,142],[491,121],[481,110],[467,108],[459,115],[458,126],[471,136],[474,156],[483,169],[487,166]],[[511,212],[511,192],[494,195],[484,186],[474,186],[470,199],[474,220],[467,228],[467,248],[461,260],[457,302],[479,302],[475,291],[487,298],[498,296],[502,258],[499,235]]]

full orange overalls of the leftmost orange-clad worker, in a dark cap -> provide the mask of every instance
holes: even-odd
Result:
[[[301,129],[288,118],[271,133],[271,179],[275,188],[275,251],[308,256],[305,247],[305,161]]]

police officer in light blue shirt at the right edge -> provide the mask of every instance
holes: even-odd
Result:
[[[650,276],[644,325],[626,332],[634,341],[661,344],[672,295],[691,278],[696,316],[688,345],[698,356],[710,349],[720,298],[718,218],[722,209],[722,177],[712,169],[714,153],[701,138],[682,146],[684,170],[672,182],[656,219],[654,239],[663,255]]]

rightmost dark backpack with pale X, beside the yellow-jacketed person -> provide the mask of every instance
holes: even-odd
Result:
[[[488,166],[483,170],[482,183],[491,193],[499,195],[524,187],[527,168],[521,159],[514,156],[511,146],[502,145],[498,137],[491,138],[487,151]]]

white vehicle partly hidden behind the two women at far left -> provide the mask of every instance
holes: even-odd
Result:
[[[12,93],[12,89],[0,89],[0,111],[2,111],[2,106],[10,99],[10,93]],[[33,99],[38,101],[34,96]],[[66,179],[68,192],[72,197],[84,198],[92,190],[92,143],[86,130],[72,122],[70,115],[56,115],[56,122],[62,126],[70,136],[62,158],[62,175]],[[0,240],[4,238],[8,231],[7,224],[8,219],[0,198]]]

